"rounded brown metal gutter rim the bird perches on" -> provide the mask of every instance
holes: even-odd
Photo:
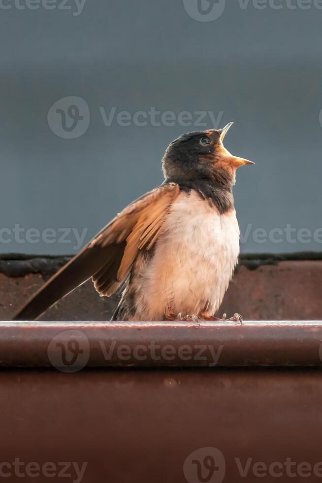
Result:
[[[322,321],[1,322],[0,367],[322,366]]]

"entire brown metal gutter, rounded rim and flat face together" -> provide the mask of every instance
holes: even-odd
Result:
[[[320,321],[3,322],[0,479],[321,481],[321,342]]]

